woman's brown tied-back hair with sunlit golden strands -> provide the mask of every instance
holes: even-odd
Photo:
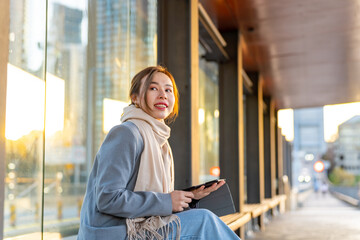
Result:
[[[175,102],[174,102],[174,109],[173,111],[169,114],[169,116],[165,119],[166,122],[170,123],[175,121],[178,113],[179,113],[179,92],[178,89],[176,87],[176,83],[175,83],[175,79],[174,77],[171,75],[171,73],[169,71],[166,70],[165,67],[163,66],[151,66],[151,67],[147,67],[143,70],[141,70],[140,72],[138,72],[133,79],[131,80],[131,87],[130,87],[130,98],[131,98],[131,103],[135,104],[132,102],[132,96],[137,95],[140,96],[141,90],[142,89],[148,89],[151,81],[154,77],[154,73],[163,73],[166,76],[168,76],[173,84],[173,93],[174,93],[174,97],[175,97]],[[145,78],[146,77],[146,78]],[[142,81],[142,79],[144,79],[144,81]],[[141,88],[142,86],[142,88]],[[144,91],[144,100],[145,100],[145,105],[147,108],[150,108],[147,101],[146,101],[146,96],[147,96],[147,91]]]

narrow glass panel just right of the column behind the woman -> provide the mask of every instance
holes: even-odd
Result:
[[[200,56],[205,53],[199,45]],[[199,181],[219,178],[219,66],[216,62],[199,59]]]

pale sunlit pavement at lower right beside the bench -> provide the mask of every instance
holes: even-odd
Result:
[[[313,193],[300,209],[274,217],[251,240],[359,240],[360,209]]]

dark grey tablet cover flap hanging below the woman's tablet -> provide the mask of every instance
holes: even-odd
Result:
[[[208,209],[215,213],[218,217],[236,212],[227,183],[221,186],[218,190],[210,193],[208,196],[200,200],[193,200],[193,202],[190,203],[190,207]]]

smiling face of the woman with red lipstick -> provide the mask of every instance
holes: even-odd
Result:
[[[142,83],[144,84],[144,83]],[[158,120],[167,118],[174,109],[175,96],[170,78],[160,72],[154,73],[148,89],[141,87],[140,107],[153,118]],[[147,91],[146,103],[144,101]]]

